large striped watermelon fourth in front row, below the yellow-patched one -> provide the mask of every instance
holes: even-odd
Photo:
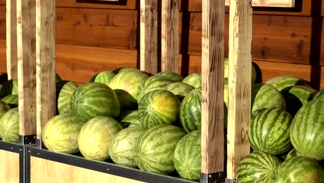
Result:
[[[146,130],[135,145],[138,168],[165,175],[175,171],[174,149],[185,135],[186,132],[174,125],[157,125]]]

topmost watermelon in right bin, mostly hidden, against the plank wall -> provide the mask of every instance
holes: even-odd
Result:
[[[307,80],[304,80],[297,76],[278,76],[276,78],[271,78],[270,80],[267,80],[265,83],[272,85],[280,92],[282,91],[282,89],[285,89],[287,87],[293,87],[295,85],[310,87],[310,83]]]

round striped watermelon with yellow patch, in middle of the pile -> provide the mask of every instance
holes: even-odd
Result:
[[[138,119],[147,129],[161,124],[173,124],[179,119],[180,101],[171,92],[158,89],[145,94],[138,104]]]

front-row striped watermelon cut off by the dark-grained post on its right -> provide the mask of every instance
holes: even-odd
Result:
[[[201,172],[201,132],[186,134],[174,150],[174,167],[183,179],[199,180]]]

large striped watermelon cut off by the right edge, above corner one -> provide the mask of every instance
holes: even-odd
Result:
[[[291,143],[299,155],[324,159],[324,101],[303,105],[289,130]]]

